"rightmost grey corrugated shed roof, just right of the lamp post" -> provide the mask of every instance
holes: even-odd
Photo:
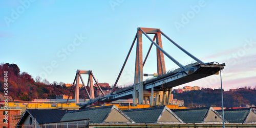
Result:
[[[225,109],[224,118],[229,123],[244,123],[246,117],[248,116],[251,108],[244,109]],[[222,110],[217,110],[217,112],[222,116]]]

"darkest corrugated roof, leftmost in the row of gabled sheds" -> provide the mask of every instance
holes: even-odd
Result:
[[[39,124],[58,122],[65,115],[66,110],[37,110],[27,109],[27,112],[36,119]],[[26,118],[26,117],[25,117]]]

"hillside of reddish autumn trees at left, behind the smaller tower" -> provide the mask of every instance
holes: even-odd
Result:
[[[0,93],[4,94],[4,76],[5,71],[8,71],[8,96],[11,96],[16,100],[31,101],[33,99],[50,99],[55,98],[56,95],[69,95],[71,88],[65,87],[63,82],[49,83],[46,79],[41,80],[39,76],[35,79],[32,78],[27,72],[20,72],[19,67],[16,64],[0,64]],[[102,88],[103,90],[110,88]],[[116,88],[120,90],[121,88]],[[73,89],[74,91],[75,89]],[[97,97],[97,88],[94,87],[94,94]],[[74,93],[71,96],[74,97]],[[79,98],[84,98],[86,91],[81,88],[79,91]],[[86,96],[86,98],[88,98]]]

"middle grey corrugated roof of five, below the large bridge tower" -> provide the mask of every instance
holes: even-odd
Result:
[[[163,111],[164,106],[134,110],[124,110],[127,116],[129,116],[136,123],[155,123]]]

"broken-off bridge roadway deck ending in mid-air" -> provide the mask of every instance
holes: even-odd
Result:
[[[209,75],[216,74],[223,69],[225,64],[217,65],[213,63],[193,63],[186,65],[185,69],[178,68],[173,71],[166,71],[165,74],[158,76],[157,78],[148,79],[143,82],[143,88],[146,91],[151,91],[154,87],[154,90],[164,88],[176,87],[188,82],[199,80],[205,78]],[[137,86],[137,85],[133,85]],[[113,92],[112,95],[105,95],[102,97],[97,97],[92,99],[92,101],[87,101],[86,103],[80,103],[79,106],[87,106],[96,101],[114,101],[118,99],[129,99],[133,97],[133,86],[125,88],[119,91]]]

